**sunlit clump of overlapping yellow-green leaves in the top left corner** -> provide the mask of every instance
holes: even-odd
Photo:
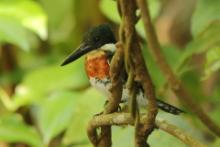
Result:
[[[1,0],[0,16],[1,42],[9,42],[28,50],[31,48],[30,32],[41,39],[47,38],[46,14],[34,1]]]

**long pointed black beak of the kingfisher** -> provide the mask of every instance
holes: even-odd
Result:
[[[61,64],[61,66],[64,66],[66,64],[69,64],[70,62],[73,62],[80,58],[81,56],[85,55],[86,53],[90,52],[93,48],[89,45],[86,45],[82,43],[76,51],[74,51],[69,57],[67,57],[64,62]]]

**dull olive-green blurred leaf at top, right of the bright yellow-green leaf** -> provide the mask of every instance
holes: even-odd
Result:
[[[49,40],[53,43],[66,41],[71,35],[75,17],[73,0],[39,0],[48,16]],[[59,9],[59,11],[58,11]],[[72,41],[72,39],[71,39]]]

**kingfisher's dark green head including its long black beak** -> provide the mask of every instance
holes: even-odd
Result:
[[[102,24],[91,28],[84,35],[80,46],[64,60],[61,66],[69,64],[91,51],[99,50],[106,44],[113,44],[115,42],[114,34],[108,24]]]

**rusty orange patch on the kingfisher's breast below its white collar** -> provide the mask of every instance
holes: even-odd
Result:
[[[107,56],[102,52],[86,57],[86,72],[89,78],[104,79],[109,76],[109,63]]]

